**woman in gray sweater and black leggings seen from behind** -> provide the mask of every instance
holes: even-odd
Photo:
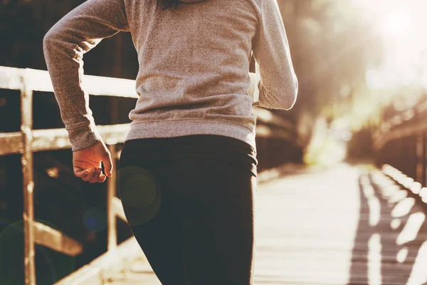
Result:
[[[88,0],[53,26],[46,63],[75,175],[91,183],[112,163],[81,86],[83,53],[119,31],[139,60],[118,173],[133,234],[162,284],[252,284],[254,98],[288,110],[297,96],[277,1]]]

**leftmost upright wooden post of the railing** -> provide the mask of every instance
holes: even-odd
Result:
[[[23,264],[26,285],[36,285],[36,265],[34,251],[34,203],[33,203],[33,91],[26,89],[25,77],[21,90],[21,132],[23,154]]]

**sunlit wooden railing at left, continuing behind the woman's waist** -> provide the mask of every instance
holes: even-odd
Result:
[[[85,76],[85,90],[90,95],[116,96],[122,98],[138,98],[135,93],[135,81]],[[0,133],[0,156],[21,154],[23,173],[23,234],[24,234],[24,274],[25,284],[36,284],[35,244],[41,244],[57,252],[75,256],[83,252],[80,242],[65,236],[46,224],[34,220],[33,206],[33,152],[42,150],[60,150],[71,147],[65,129],[33,130],[33,91],[53,92],[51,78],[47,71],[21,69],[0,66],[0,89],[21,91],[21,131],[16,133]],[[257,137],[280,138],[298,145],[294,125],[268,110],[254,108],[257,115]],[[274,126],[270,128],[270,126]],[[117,144],[125,141],[129,124],[98,125],[102,140],[108,146],[117,169],[120,149]],[[117,249],[116,217],[126,221],[120,199],[115,197],[117,187],[116,172],[107,180],[107,255]],[[123,243],[125,244],[125,242]],[[117,254],[115,254],[117,255]],[[99,266],[98,266],[99,267]],[[80,270],[80,269],[79,269]],[[88,284],[86,279],[93,278],[99,268],[81,269],[80,276],[68,276],[58,284]]]

